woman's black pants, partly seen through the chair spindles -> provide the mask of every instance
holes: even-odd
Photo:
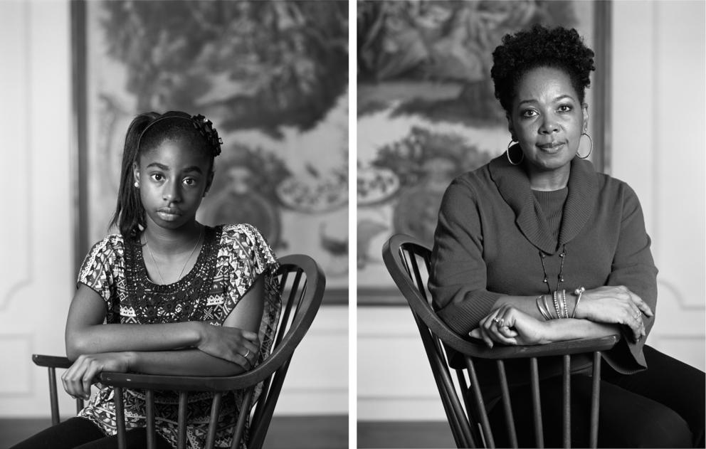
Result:
[[[702,371],[646,346],[648,369],[629,376],[601,364],[599,448],[703,448],[706,378]],[[589,445],[591,376],[571,376],[571,447]],[[544,444],[562,447],[562,379],[539,383]],[[511,389],[520,447],[532,448],[529,386]],[[509,447],[502,404],[490,412],[498,447]]]

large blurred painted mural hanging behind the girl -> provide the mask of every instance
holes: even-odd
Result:
[[[201,113],[216,125],[223,153],[197,218],[252,223],[278,254],[315,258],[328,290],[344,297],[347,1],[115,0],[78,9],[87,208],[79,250],[107,231],[132,117]]]

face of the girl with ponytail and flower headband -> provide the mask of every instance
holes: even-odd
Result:
[[[139,182],[147,226],[167,229],[194,221],[214,178],[208,157],[172,140],[141,154],[132,171]]]

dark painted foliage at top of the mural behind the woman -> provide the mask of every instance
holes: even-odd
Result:
[[[359,80],[459,83],[462,88],[451,100],[413,100],[397,112],[421,113],[431,120],[502,122],[505,114],[490,80],[492,50],[506,33],[534,23],[573,26],[573,5],[542,0],[360,1]]]

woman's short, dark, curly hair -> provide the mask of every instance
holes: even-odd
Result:
[[[495,97],[508,114],[517,83],[529,70],[537,67],[564,70],[581,103],[591,84],[589,74],[596,70],[594,51],[584,45],[574,28],[550,29],[541,25],[503,36],[502,44],[492,52],[492,63],[490,76],[495,83]]]

